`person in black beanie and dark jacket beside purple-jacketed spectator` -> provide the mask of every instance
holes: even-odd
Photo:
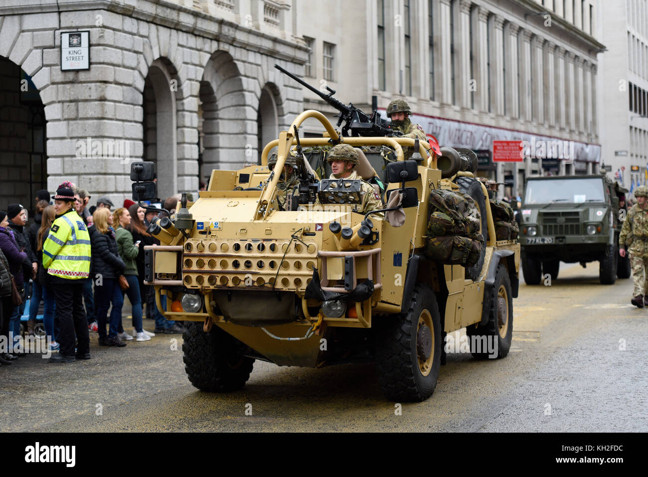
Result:
[[[38,262],[36,261],[36,254],[32,250],[32,245],[29,240],[29,231],[25,227],[27,224],[27,209],[22,204],[9,204],[6,208],[7,219],[9,220],[9,227],[14,231],[14,237],[20,251],[27,253],[27,259],[23,261],[23,278],[25,279],[25,289],[23,290],[23,303],[14,309],[14,314],[11,317],[11,322],[14,327],[14,336],[20,333],[20,317],[25,312],[25,305],[27,304],[27,296],[30,294],[30,278],[36,277],[36,270],[38,270]],[[27,321],[27,332],[34,335],[35,321]]]

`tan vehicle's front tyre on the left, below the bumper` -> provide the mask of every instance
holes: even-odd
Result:
[[[245,386],[254,360],[240,354],[240,344],[217,326],[209,333],[203,323],[187,321],[182,358],[191,384],[202,391],[227,392]]]

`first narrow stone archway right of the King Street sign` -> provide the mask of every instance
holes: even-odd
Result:
[[[178,192],[175,91],[175,68],[165,58],[158,58],[145,78],[142,123],[144,160],[156,163],[157,194],[162,200]]]

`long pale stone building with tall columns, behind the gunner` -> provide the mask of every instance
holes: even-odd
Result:
[[[297,12],[299,24],[321,19],[316,29],[303,30],[312,47],[306,67],[312,84],[325,83],[342,102],[365,109],[372,95],[382,109],[403,98],[415,122],[441,145],[478,150],[485,163],[493,140],[573,141],[573,163],[545,153],[522,163],[485,164],[480,174],[506,182],[507,194],[521,194],[532,175],[597,171],[597,54],[604,49],[596,40],[599,2],[351,4],[319,2]],[[304,99],[305,108],[327,108],[310,91]]]

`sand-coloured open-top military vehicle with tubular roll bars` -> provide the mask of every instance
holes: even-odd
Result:
[[[400,207],[388,212],[402,225],[360,215],[356,181],[318,180],[305,161],[298,161],[301,182],[292,204],[280,210],[275,172],[308,118],[321,122],[324,134],[301,139],[305,147],[393,150],[397,160],[386,167],[383,199],[387,204],[401,194]],[[419,154],[403,161],[403,146]],[[266,164],[275,147],[271,173]],[[323,114],[305,111],[265,146],[261,165],[213,170],[196,202],[183,198],[170,218],[154,222],[149,230],[161,245],[145,248],[146,283],[154,285],[168,320],[188,323],[183,351],[192,384],[237,390],[255,360],[310,367],[374,361],[386,397],[422,401],[445,364],[446,333],[466,327],[473,355],[489,355],[491,340],[491,357],[506,356],[520,246],[496,240],[488,192],[468,170],[476,162],[443,150],[399,137],[342,137]],[[358,172],[367,179],[376,174],[364,154]],[[155,196],[152,173],[152,163],[133,164],[133,199]],[[424,253],[428,198],[439,189],[465,192],[479,207],[486,246],[469,268]]]

